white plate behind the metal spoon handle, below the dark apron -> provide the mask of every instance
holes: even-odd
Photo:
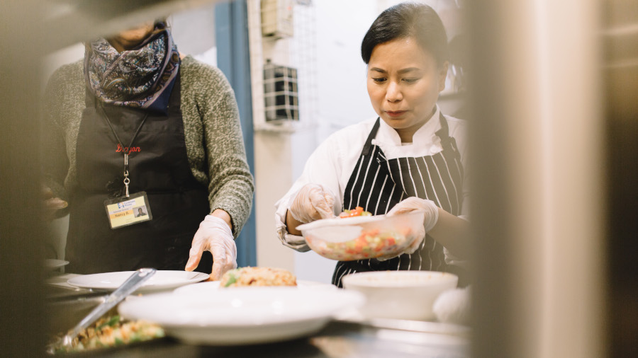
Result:
[[[69,279],[68,284],[85,289],[105,289],[113,291],[121,286],[135,271],[105,272],[101,274],[82,275]],[[208,274],[202,272],[168,271],[158,270],[147,282],[142,284],[136,293],[147,293],[152,291],[164,291],[175,289],[184,284],[208,279]]]

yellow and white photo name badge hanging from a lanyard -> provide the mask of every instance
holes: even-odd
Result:
[[[104,206],[106,207],[108,223],[111,224],[111,229],[118,229],[153,219],[146,192],[136,192],[128,197],[109,199],[104,202]]]

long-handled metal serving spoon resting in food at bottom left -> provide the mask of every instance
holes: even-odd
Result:
[[[108,312],[111,308],[119,304],[126,296],[133,293],[136,289],[138,289],[147,279],[150,279],[152,275],[155,275],[154,268],[140,268],[133,272],[133,275],[130,275],[126,281],[121,284],[118,289],[113,291],[113,293],[109,294],[106,299],[99,304],[96,308],[91,311],[86,317],[82,318],[82,321],[79,321],[77,325],[72,330],[69,330],[64,337],[59,340],[51,343],[47,346],[47,352],[53,354],[56,350],[62,347],[71,347],[72,342],[77,335],[79,335],[82,330],[89,327],[91,323],[94,323],[98,318],[100,318],[104,313]]]

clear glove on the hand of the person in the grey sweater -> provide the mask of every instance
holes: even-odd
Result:
[[[230,231],[226,221],[217,216],[206,215],[206,218],[199,224],[199,229],[193,237],[189,251],[186,271],[196,269],[199,260],[201,260],[201,254],[205,250],[211,251],[213,254],[211,279],[221,279],[226,271],[237,268],[237,246],[233,239],[233,232]]]

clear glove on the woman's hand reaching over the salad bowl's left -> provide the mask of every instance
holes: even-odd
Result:
[[[297,221],[309,223],[319,219],[335,217],[332,206],[335,195],[319,184],[306,184],[301,187],[297,195],[291,200],[289,212]]]

